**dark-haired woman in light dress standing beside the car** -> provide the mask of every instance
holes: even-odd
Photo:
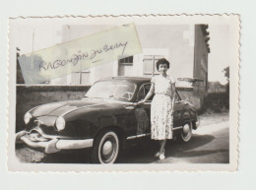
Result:
[[[156,154],[160,159],[164,158],[166,139],[172,139],[175,81],[167,76],[168,68],[169,62],[166,59],[157,62],[160,75],[152,78],[150,92],[139,102],[144,103],[156,94],[151,105],[151,138],[160,142],[160,151]]]

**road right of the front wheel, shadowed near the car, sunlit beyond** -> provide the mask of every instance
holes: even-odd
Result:
[[[126,151],[125,157],[120,158],[119,161],[122,163],[228,163],[228,115],[203,117],[200,127],[193,131],[190,142],[167,142],[163,160],[154,157],[158,149],[157,142],[152,142],[150,146],[140,144],[139,147]]]

